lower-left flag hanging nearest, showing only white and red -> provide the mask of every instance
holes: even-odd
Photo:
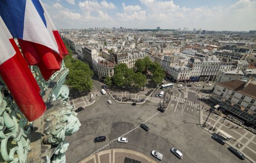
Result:
[[[0,75],[29,121],[46,111],[36,80],[0,16]]]

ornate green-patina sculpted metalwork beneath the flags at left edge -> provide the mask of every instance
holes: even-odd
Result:
[[[81,125],[73,107],[66,102],[69,99],[69,88],[63,84],[69,69],[62,62],[61,69],[47,82],[42,78],[37,66],[30,68],[41,89],[42,98],[51,103],[51,107],[41,119],[39,146],[46,149],[46,152],[41,151],[41,160],[38,162],[66,162],[65,152],[69,143],[64,141],[65,137],[72,135]],[[32,122],[28,122],[11,96],[5,97],[4,91],[8,92],[7,87],[0,86],[0,162],[27,162],[28,153],[33,153],[30,146]]]

